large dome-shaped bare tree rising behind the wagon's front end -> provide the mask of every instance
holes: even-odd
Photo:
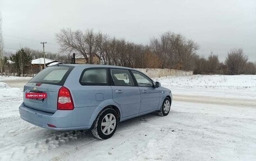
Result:
[[[192,70],[194,63],[191,59],[195,56],[198,45],[193,40],[186,39],[181,34],[164,33],[160,38],[150,40],[153,53],[161,59],[162,68],[176,68]]]

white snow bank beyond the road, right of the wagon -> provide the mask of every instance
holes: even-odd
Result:
[[[256,100],[256,75],[192,75],[154,78],[172,95],[202,95]]]

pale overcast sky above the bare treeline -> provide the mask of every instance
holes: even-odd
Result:
[[[110,36],[147,44],[166,31],[199,44],[198,54],[243,48],[256,61],[256,1],[35,1],[0,0],[4,50],[21,47],[58,52],[55,34],[63,27],[93,28]]]

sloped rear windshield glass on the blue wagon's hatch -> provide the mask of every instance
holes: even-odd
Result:
[[[29,82],[31,83],[43,83],[53,85],[63,85],[67,79],[67,76],[74,67],[69,66],[52,66],[47,67],[43,71],[40,71]]]

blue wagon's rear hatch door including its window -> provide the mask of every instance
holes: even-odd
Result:
[[[72,66],[51,66],[39,72],[24,86],[24,105],[39,111],[57,111],[58,90],[64,85]],[[26,98],[26,93],[46,93],[47,98]]]

